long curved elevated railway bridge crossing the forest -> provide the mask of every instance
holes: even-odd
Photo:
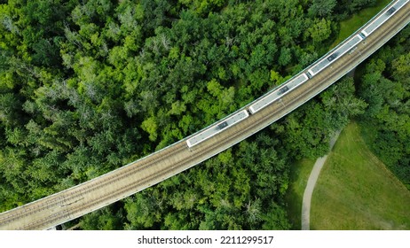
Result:
[[[228,116],[227,118],[233,117],[239,112],[243,112],[243,117],[246,115],[246,118],[231,127],[229,121],[233,121],[234,118],[226,122],[227,119],[218,121],[217,124],[210,126],[217,127],[218,130],[212,136],[201,137],[201,134],[203,136],[204,132],[207,133],[209,130],[205,128],[193,136],[108,174],[0,213],[0,229],[49,229],[74,220],[179,174],[252,136],[327,89],[406,27],[410,21],[408,2],[409,0],[393,1],[334,50],[297,74],[294,77],[295,81],[268,93],[277,94],[279,97],[272,102],[264,100],[263,103],[267,101],[269,104],[264,104],[263,108],[259,107],[260,101],[266,99],[266,96]],[[399,5],[400,8],[397,7]],[[354,47],[346,51],[346,46],[351,44]],[[325,64],[327,66],[323,68],[318,67]],[[303,74],[306,76],[301,77]],[[279,93],[274,93],[274,90]],[[256,108],[257,112],[252,111]],[[195,144],[190,145],[187,141]]]

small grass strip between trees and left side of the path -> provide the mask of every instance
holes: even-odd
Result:
[[[302,159],[292,165],[290,169],[290,182],[286,201],[288,203],[288,216],[292,223],[292,229],[301,229],[302,199],[311,169],[315,160]]]

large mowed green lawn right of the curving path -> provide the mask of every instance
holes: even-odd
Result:
[[[367,149],[355,122],[319,175],[311,229],[410,229],[410,191]]]

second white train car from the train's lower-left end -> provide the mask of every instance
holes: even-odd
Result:
[[[256,100],[255,104],[249,106],[249,112],[254,114],[255,112],[260,111],[267,105],[272,104],[281,96],[288,94],[292,89],[295,89],[297,86],[299,86],[307,80],[309,80],[309,78],[306,74],[300,74],[296,78],[285,82],[285,85],[282,86],[280,89],[274,90],[265,97]]]

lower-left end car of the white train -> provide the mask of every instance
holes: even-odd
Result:
[[[191,148],[199,143],[202,143],[212,136],[216,136],[218,133],[224,131],[226,128],[231,128],[233,125],[238,124],[240,121],[247,119],[249,116],[248,111],[243,110],[241,112],[234,113],[225,120],[218,122],[215,125],[210,126],[197,135],[194,135],[186,140],[186,145]]]

